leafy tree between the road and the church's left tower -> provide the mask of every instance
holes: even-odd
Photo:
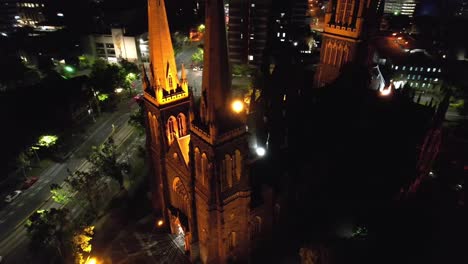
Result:
[[[130,165],[127,162],[117,161],[117,148],[112,137],[101,146],[93,147],[88,161],[95,166],[98,173],[115,179],[119,183],[120,188],[124,188],[123,172],[128,171]]]

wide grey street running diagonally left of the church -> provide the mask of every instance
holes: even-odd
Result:
[[[33,212],[39,209],[58,207],[50,199],[50,184],[61,184],[68,176],[67,169],[75,171],[83,170],[88,166],[85,160],[92,146],[102,144],[111,133],[114,133],[116,145],[128,139],[133,133],[133,128],[128,125],[130,112],[138,106],[133,100],[121,102],[112,114],[103,114],[90,128],[87,139],[70,155],[64,163],[54,163],[46,169],[39,180],[28,190],[24,191],[12,203],[0,211],[0,255],[8,256],[14,252],[18,254],[17,247],[24,246],[25,220]]]

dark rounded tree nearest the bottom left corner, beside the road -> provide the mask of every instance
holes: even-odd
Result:
[[[25,226],[36,252],[42,249],[53,257],[67,258],[73,229],[68,209],[36,211]]]

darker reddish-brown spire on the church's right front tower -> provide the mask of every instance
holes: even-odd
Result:
[[[222,0],[207,0],[200,118],[212,126],[227,110],[231,88]]]

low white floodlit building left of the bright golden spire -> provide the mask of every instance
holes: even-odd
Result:
[[[148,44],[145,34],[126,36],[125,29],[112,28],[111,34],[93,34],[83,39],[85,53],[96,58],[103,58],[111,63],[119,59],[130,62],[146,61]]]

